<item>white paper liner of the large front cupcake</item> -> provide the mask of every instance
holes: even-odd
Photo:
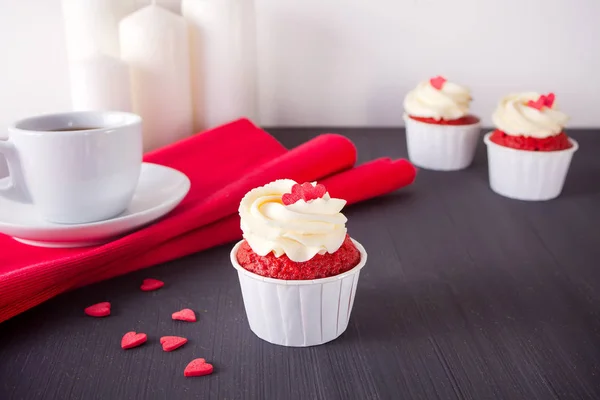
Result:
[[[242,268],[237,251],[231,263],[238,271],[250,329],[267,342],[290,347],[316,346],[340,336],[348,327],[360,270],[367,253],[360,251],[360,263],[350,271],[330,278],[286,281],[265,278]]]

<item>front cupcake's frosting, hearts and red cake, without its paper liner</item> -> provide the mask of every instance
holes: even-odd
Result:
[[[281,193],[283,191],[288,191]],[[274,191],[277,195],[266,196]],[[257,197],[258,196],[258,197]],[[240,204],[244,243],[237,261],[255,274],[284,280],[328,278],[349,271],[360,252],[346,234],[346,202],[323,185],[279,180]]]

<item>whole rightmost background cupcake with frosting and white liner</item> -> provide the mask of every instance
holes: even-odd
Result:
[[[519,200],[550,200],[562,191],[578,144],[564,127],[553,93],[506,96],[492,116],[496,130],[484,137],[490,186]]]

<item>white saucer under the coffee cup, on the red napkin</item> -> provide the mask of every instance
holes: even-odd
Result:
[[[131,204],[115,218],[89,224],[61,225],[43,220],[31,204],[0,198],[0,232],[38,247],[86,247],[144,226],[173,210],[190,190],[183,173],[144,163]]]

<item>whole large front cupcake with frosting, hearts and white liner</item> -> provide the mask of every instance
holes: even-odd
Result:
[[[314,346],[348,326],[364,248],[351,239],[346,201],[323,185],[281,179],[248,192],[244,239],[231,251],[250,329],[283,346]]]

